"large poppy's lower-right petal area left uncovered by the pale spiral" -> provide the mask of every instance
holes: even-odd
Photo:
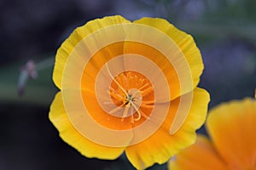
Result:
[[[193,93],[189,116],[177,133],[170,135],[169,128],[179,107],[179,98],[171,102],[165,122],[152,136],[125,149],[126,156],[134,167],[144,169],[155,162],[164,163],[179,150],[195,142],[195,129],[201,127],[207,116],[209,94],[201,88],[195,88]]]

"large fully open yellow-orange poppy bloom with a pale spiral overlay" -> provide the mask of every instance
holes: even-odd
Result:
[[[205,121],[202,70],[193,38],[166,20],[92,20],[57,51],[61,92],[49,119],[84,156],[113,160],[125,151],[137,169],[161,164],[193,144]]]

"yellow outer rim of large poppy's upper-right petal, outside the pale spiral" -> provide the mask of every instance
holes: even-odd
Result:
[[[167,36],[169,36],[174,42],[177,43],[178,48],[180,48],[183,55],[187,59],[194,81],[193,87],[195,88],[200,81],[200,76],[204,66],[201,59],[201,53],[196,47],[193,37],[183,31],[178,30],[168,21],[160,18],[152,19],[145,17],[140,20],[135,20],[134,23],[152,26],[160,31],[163,31],[166,33]],[[191,91],[191,89],[187,89],[182,93],[185,94],[189,91]]]

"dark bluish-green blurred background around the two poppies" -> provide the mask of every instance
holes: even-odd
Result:
[[[76,27],[113,14],[169,20],[201,49],[200,87],[210,92],[211,108],[254,96],[255,8],[255,0],[1,0],[0,170],[134,169],[125,156],[115,161],[81,156],[49,122],[58,91],[51,78],[55,51]],[[26,82],[27,76],[35,79]],[[164,170],[166,164],[148,169]]]

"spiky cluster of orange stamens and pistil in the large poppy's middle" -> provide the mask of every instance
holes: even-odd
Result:
[[[123,115],[121,116],[121,122],[124,122],[125,117],[131,115],[131,123],[134,124],[135,121],[139,121],[143,116],[146,119],[149,117],[140,110],[139,107],[152,109],[154,107],[154,100],[143,101],[143,96],[148,95],[153,91],[151,86],[148,87],[149,83],[144,83],[143,78],[135,76],[131,76],[131,72],[127,72],[127,74],[121,74],[121,77],[114,78],[111,72],[109,71],[108,64],[106,64],[106,68],[109,74],[109,77],[113,79],[118,86],[117,89],[113,87],[109,87],[107,91],[108,94],[113,97],[113,99],[122,102],[121,105],[117,105],[112,111],[109,111],[109,114],[113,114],[121,109],[124,109]],[[138,89],[131,88],[134,85]],[[139,88],[140,87],[140,88]],[[128,89],[131,88],[129,91]],[[111,104],[113,102],[104,102],[105,105]],[[125,107],[125,108],[124,108]],[[134,116],[134,113],[137,112],[137,117]]]

